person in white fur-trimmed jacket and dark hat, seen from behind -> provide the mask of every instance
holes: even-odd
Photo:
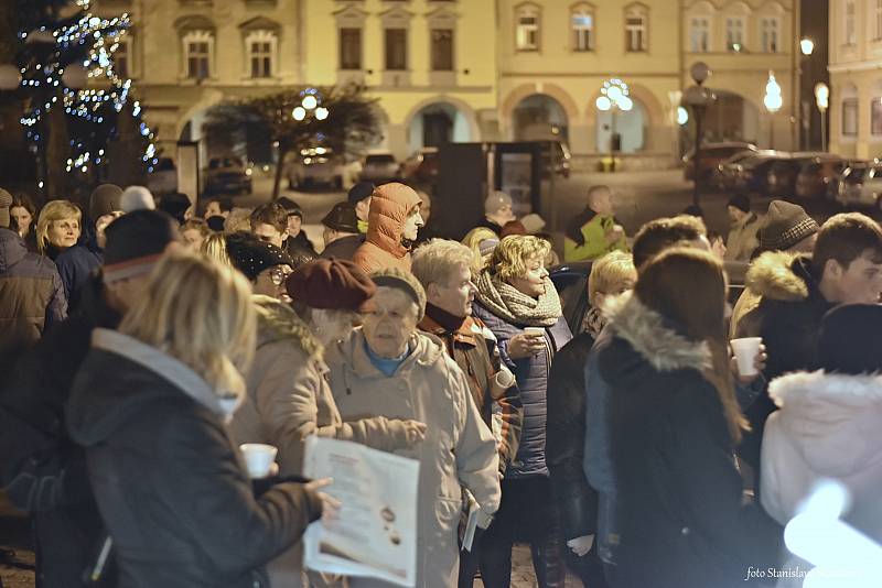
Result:
[[[827,313],[818,363],[819,371],[789,373],[770,385],[781,410],[765,425],[763,507],[786,524],[819,480],[835,479],[851,494],[846,520],[879,542],[882,306],[850,304]]]

